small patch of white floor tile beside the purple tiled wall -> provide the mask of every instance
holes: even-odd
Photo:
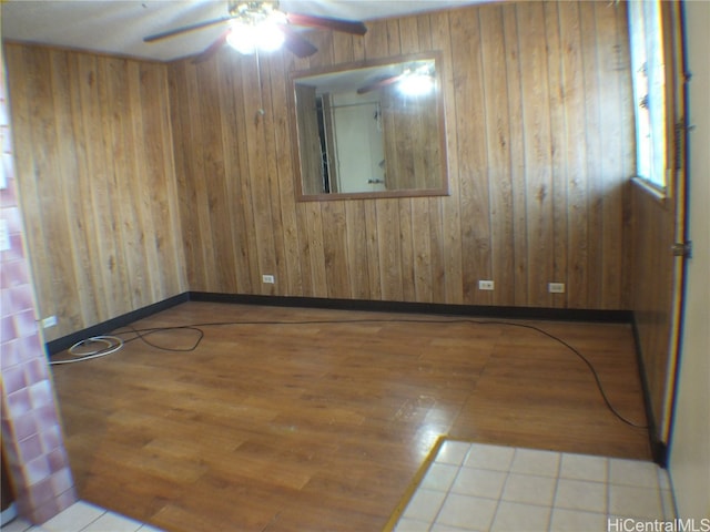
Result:
[[[69,507],[41,526],[34,526],[23,519],[16,519],[0,530],[2,532],[161,532],[154,526],[83,501]]]

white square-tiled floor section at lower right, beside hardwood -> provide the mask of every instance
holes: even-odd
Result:
[[[394,530],[602,532],[674,518],[652,462],[447,440]]]

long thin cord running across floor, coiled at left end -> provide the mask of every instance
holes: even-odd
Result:
[[[226,326],[242,326],[242,325],[260,325],[260,326],[285,325],[285,326],[291,326],[291,325],[333,325],[333,324],[474,324],[474,325],[503,325],[503,326],[518,327],[518,328],[523,328],[523,329],[534,330],[534,331],[539,332],[539,334],[550,338],[551,340],[560,344],[565,348],[567,348],[569,351],[571,351],[574,355],[576,355],[577,358],[579,358],[587,366],[587,368],[589,368],[589,371],[591,372],[591,375],[592,375],[592,377],[595,379],[595,383],[597,386],[597,389],[599,390],[599,393],[601,395],[601,398],[604,399],[604,402],[605,402],[607,409],[613,416],[616,416],[620,421],[622,421],[623,423],[626,423],[626,424],[628,424],[630,427],[638,428],[638,429],[648,429],[648,426],[639,424],[639,423],[636,423],[636,422],[630,421],[629,419],[625,418],[613,407],[613,405],[611,403],[611,401],[607,397],[607,393],[606,393],[606,391],[604,389],[604,385],[601,383],[601,379],[599,378],[599,374],[597,372],[597,369],[594,367],[591,361],[587,357],[585,357],[577,348],[575,348],[574,346],[571,346],[567,341],[562,340],[561,338],[552,335],[551,332],[548,332],[545,329],[541,329],[540,327],[537,327],[535,325],[528,325],[528,324],[518,324],[518,323],[515,323],[515,321],[479,320],[479,319],[470,319],[470,318],[453,318],[453,319],[447,319],[447,318],[443,318],[443,319],[426,319],[426,318],[385,318],[385,319],[381,319],[381,318],[362,318],[362,319],[308,319],[308,320],[297,320],[297,321],[285,321],[285,320],[211,321],[211,323],[203,323],[203,324],[176,325],[176,326],[170,326],[170,327],[149,327],[149,328],[144,328],[144,329],[136,329],[134,327],[128,327],[128,330],[120,331],[120,329],[119,329],[118,331],[114,331],[113,334],[116,335],[116,336],[95,336],[93,338],[89,338],[87,340],[82,340],[80,342],[77,342],[74,346],[72,346],[70,348],[70,352],[72,352],[72,350],[75,350],[74,348],[77,348],[78,346],[80,346],[80,345],[83,346],[83,345],[85,345],[84,342],[92,342],[92,341],[93,342],[97,342],[97,341],[98,342],[106,342],[108,345],[103,349],[97,350],[95,352],[90,352],[89,355],[79,355],[79,358],[75,358],[75,359],[51,361],[50,365],[71,364],[71,362],[78,362],[78,361],[83,361],[83,360],[90,360],[90,359],[93,359],[93,358],[104,357],[106,355],[111,355],[112,352],[115,352],[115,351],[122,349],[125,344],[129,344],[131,341],[139,340],[139,339],[141,341],[145,342],[146,345],[155,348],[155,349],[160,349],[160,350],[164,350],[164,351],[190,352],[190,351],[194,351],[195,349],[197,349],[197,347],[200,346],[200,342],[204,338],[204,331],[202,330],[202,327],[226,327]],[[163,346],[159,346],[159,345],[148,340],[148,337],[150,335],[153,335],[153,334],[156,334],[156,332],[172,331],[172,330],[194,330],[194,331],[197,332],[197,338],[194,340],[193,344],[191,344],[190,346],[184,347],[184,348],[163,347]],[[121,338],[119,338],[118,335],[133,335],[133,336],[122,340]],[[114,342],[113,340],[118,340],[118,341]],[[109,344],[109,341],[111,341],[111,344]]]

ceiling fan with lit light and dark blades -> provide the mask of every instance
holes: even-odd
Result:
[[[317,52],[317,48],[300,32],[295,31],[292,28],[294,25],[341,31],[354,35],[364,35],[367,32],[365,24],[357,21],[286,13],[278,9],[277,1],[229,0],[227,11],[229,14],[225,17],[148,35],[143,41],[155,42],[190,31],[226,23],[227,27],[220,37],[195,58],[195,62],[202,62],[214,55],[225,43],[231,44],[242,53],[252,53],[256,49],[277,49],[281,44],[284,44],[298,58],[313,55]]]

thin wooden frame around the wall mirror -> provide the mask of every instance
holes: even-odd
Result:
[[[296,110],[296,83],[302,78],[312,75],[345,72],[349,70],[368,69],[372,66],[382,66],[393,63],[406,63],[410,61],[432,59],[436,65],[436,83],[437,83],[437,113],[439,116],[439,167],[442,168],[440,186],[435,188],[400,188],[396,191],[383,192],[348,192],[348,193],[322,193],[305,194],[303,180],[301,175],[301,139],[298,135],[297,110]],[[368,198],[390,198],[390,197],[422,197],[422,196],[448,196],[448,154],[446,142],[446,114],[444,112],[444,89],[442,80],[443,74],[443,55],[439,51],[430,51],[423,53],[414,53],[407,55],[395,55],[376,60],[355,61],[351,63],[337,63],[327,66],[316,66],[307,70],[293,70],[288,73],[288,117],[291,122],[291,134],[295,140],[292,150],[293,174],[294,174],[294,192],[297,202],[323,202],[323,201],[341,201],[341,200],[368,200]]]

